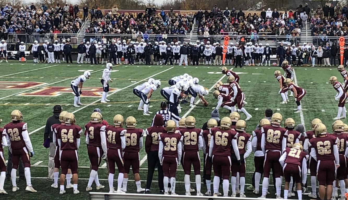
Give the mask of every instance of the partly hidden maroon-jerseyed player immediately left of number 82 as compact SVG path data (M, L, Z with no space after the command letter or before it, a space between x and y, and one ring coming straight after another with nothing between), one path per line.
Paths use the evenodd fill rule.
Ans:
M253 131L253 139L251 145L254 152L254 166L255 166L255 190L254 194L259 194L261 175L263 174L264 153L261 149L261 127L269 126L271 123L268 119L261 119L259 122L259 129Z

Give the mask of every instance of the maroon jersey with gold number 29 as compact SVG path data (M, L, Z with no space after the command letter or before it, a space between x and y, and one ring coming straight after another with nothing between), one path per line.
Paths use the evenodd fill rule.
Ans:
M198 151L199 136L202 136L200 128L183 128L180 130L182 142L184 144L183 151Z

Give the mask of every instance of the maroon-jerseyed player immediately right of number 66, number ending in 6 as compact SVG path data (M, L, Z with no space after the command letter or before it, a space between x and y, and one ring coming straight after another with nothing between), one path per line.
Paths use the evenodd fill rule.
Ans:
M245 198L244 194L244 187L245 187L245 159L250 155L251 153L251 135L248 133L245 133L246 130L246 123L244 120L238 120L236 123L236 131L238 133L237 143L238 143L238 150L241 160L241 165L238 166L236 160L234 160L234 156L232 156L232 165L231 165L231 187L232 187L232 195L231 197L236 197L236 188L238 188L238 185L236 185L236 176L237 173L239 173L240 177L240 195L239 197ZM234 153L231 151L231 153Z

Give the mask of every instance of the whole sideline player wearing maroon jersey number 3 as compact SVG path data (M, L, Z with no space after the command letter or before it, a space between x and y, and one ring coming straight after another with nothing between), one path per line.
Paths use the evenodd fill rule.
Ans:
M93 112L90 115L90 123L86 126L86 144L88 150L89 161L92 165L92 169L89 174L89 180L86 187L86 191L92 190L92 183L95 181L97 185L96 189L100 190L105 186L99 183L98 168L102 158L106 158L106 126L103 125L103 116L100 112Z

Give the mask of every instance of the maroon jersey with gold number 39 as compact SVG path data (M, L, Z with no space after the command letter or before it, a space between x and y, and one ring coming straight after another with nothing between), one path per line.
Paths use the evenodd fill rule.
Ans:
M163 143L163 157L177 158L177 144L179 144L181 135L179 133L169 134L164 132L160 135L160 139Z

